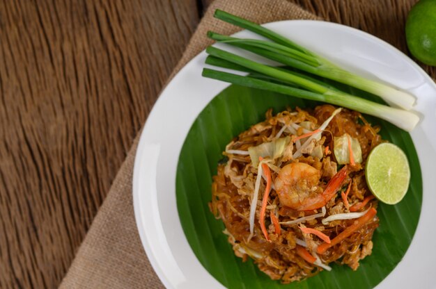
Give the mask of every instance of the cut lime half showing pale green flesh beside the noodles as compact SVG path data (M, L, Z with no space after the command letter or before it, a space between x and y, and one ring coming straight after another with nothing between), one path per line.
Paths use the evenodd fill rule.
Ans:
M377 145L366 159L366 183L385 204L397 204L406 195L410 167L404 152L389 142Z

